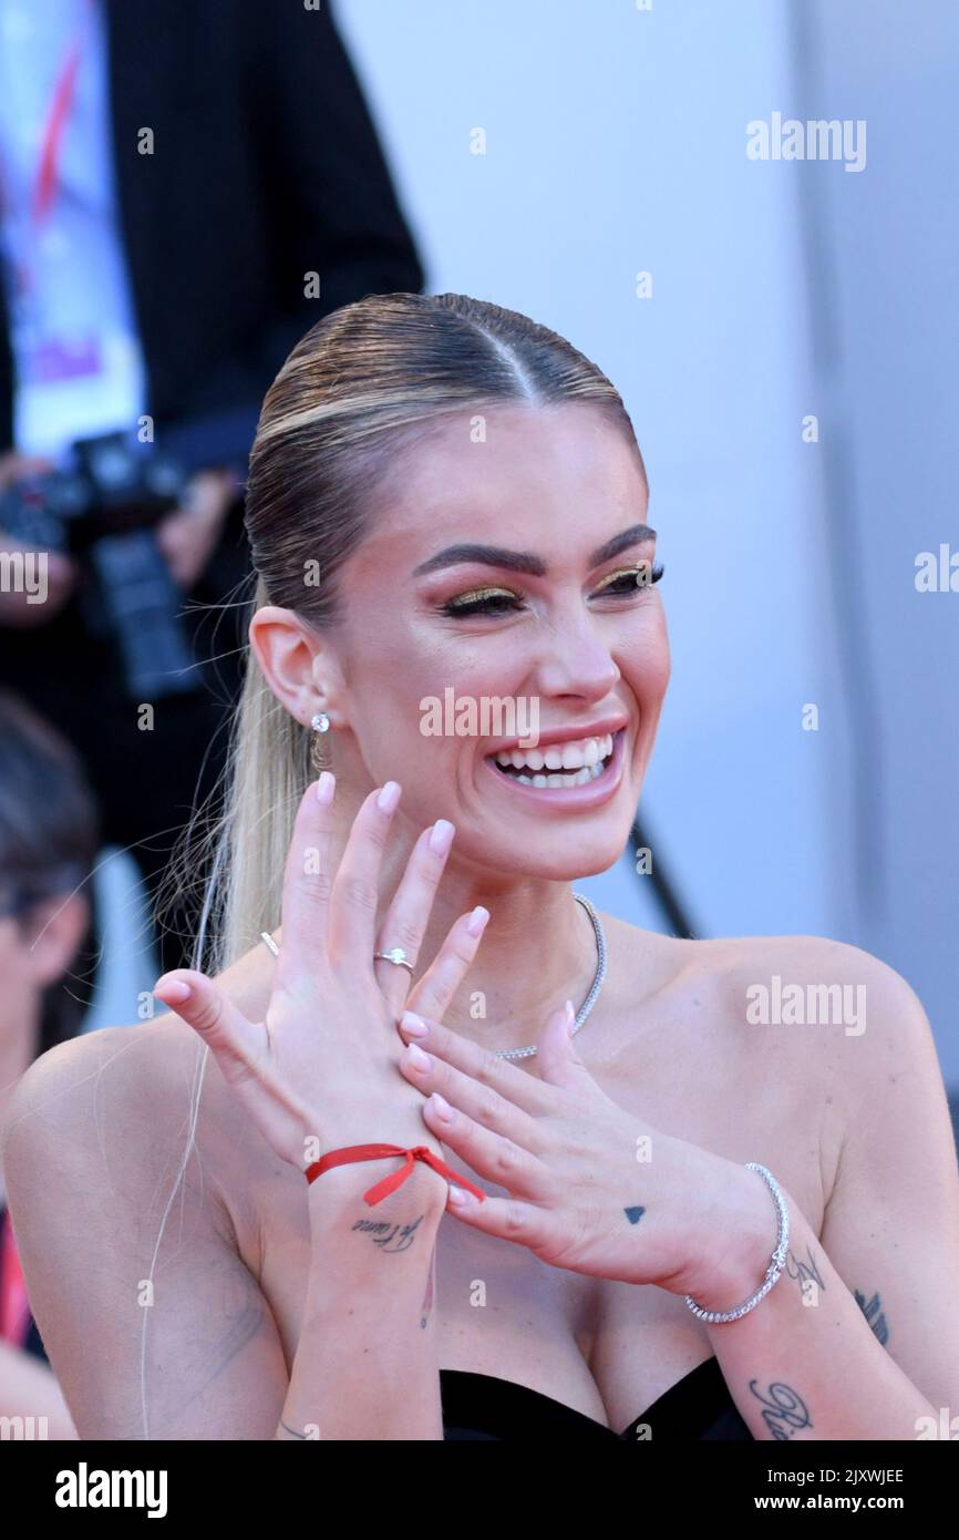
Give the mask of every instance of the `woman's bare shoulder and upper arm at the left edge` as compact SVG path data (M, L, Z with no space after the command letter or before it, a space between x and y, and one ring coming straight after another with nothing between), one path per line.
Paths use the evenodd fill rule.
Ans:
M223 1198L211 1069L195 1033L165 1013L51 1049L14 1093L9 1207L82 1438L276 1429L283 1352Z

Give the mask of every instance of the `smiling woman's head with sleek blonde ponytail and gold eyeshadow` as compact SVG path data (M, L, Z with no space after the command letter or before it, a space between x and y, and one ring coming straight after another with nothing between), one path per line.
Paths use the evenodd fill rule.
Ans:
M448 872L496 887L619 858L670 675L651 531L625 536L647 504L617 390L528 317L460 294L371 294L306 333L251 454L256 658L214 967L277 922L317 710L339 805L399 781L397 816L416 832L456 825ZM466 545L531 559L451 562ZM517 735L482 724L429 735L423 701L451 687L536 701L539 732L570 756L560 744L559 764L554 745L545 762L506 764Z

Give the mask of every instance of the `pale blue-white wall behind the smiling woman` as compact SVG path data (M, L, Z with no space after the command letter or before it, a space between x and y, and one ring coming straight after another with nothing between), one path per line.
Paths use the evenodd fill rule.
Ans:
M674 670L642 812L696 933L876 952L919 992L959 1084L959 594L913 588L917 550L959 544L956 12L334 11L428 290L554 326L633 417ZM867 168L748 160L745 125L773 111L867 119ZM582 886L663 926L628 858Z

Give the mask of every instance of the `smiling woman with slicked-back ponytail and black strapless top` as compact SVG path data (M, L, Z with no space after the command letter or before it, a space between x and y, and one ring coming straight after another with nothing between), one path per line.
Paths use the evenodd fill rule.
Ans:
M908 1440L959 1395L959 1181L908 986L576 902L670 678L647 505L616 388L514 311L368 296L289 354L228 812L179 875L211 856L195 967L155 986L180 1021L17 1093L11 1195L82 1435ZM446 691L476 710L423 732ZM490 730L503 701L536 702L534 742ZM868 1053L756 1035L773 969L868 987Z

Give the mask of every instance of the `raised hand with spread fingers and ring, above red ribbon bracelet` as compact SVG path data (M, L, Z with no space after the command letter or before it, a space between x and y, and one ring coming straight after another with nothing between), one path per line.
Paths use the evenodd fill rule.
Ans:
M442 1152L423 1121L420 1092L397 1067L403 1043L396 1023L409 973L374 962L373 955L402 946L416 966L453 825L440 821L422 832L377 935L382 855L400 788L386 782L369 793L336 878L329 870L334 790L334 776L323 772L296 816L283 873L283 933L263 1019L248 1021L192 969L174 969L154 984L154 995L209 1046L266 1143L300 1172L345 1144L426 1144ZM486 919L485 910L474 910L451 927L416 987L420 1010L442 1015Z

